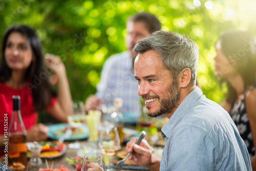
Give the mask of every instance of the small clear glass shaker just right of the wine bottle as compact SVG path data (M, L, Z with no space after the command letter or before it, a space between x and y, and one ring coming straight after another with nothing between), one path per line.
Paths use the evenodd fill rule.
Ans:
M42 159L40 158L42 146L34 141L31 146L31 158L29 159L29 171L37 171L42 166Z

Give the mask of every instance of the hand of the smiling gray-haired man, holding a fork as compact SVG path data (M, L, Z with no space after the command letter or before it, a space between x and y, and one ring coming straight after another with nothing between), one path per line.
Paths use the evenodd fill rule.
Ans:
M126 154L134 149L134 153L129 157L133 159L138 165L150 168L151 170L159 170L160 159L152 153L150 144L143 139L139 145L135 144L138 138L131 138L127 142L125 151Z

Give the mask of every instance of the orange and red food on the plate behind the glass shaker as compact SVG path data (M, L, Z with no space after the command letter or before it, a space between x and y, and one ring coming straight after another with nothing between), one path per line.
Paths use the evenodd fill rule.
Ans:
M42 146L40 157L54 157L58 156L59 153L66 147L66 144L60 141L41 141L38 144ZM28 146L28 156L31 156L30 147Z

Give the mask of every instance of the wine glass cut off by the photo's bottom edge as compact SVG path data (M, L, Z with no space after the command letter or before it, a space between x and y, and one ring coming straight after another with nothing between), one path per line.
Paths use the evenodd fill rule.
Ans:
M83 156L81 171L106 171L105 162L101 154L88 154Z

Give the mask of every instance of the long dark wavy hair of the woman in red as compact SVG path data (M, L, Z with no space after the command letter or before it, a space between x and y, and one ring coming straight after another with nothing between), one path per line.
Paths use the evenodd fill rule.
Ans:
M6 63L5 49L7 39L13 32L22 34L31 46L32 53L35 56L35 61L30 63L30 66L24 75L24 80L27 82L26 85L29 87L30 92L32 93L35 111L46 110L50 103L51 97L56 97L56 92L53 90L47 79L48 74L44 65L41 42L36 32L30 27L25 25L15 25L6 30L2 39L0 82L6 82L11 78L12 70L7 66ZM44 74L44 78L46 79L40 79L40 82L35 82L35 79L38 81L38 78L40 78L40 74Z

